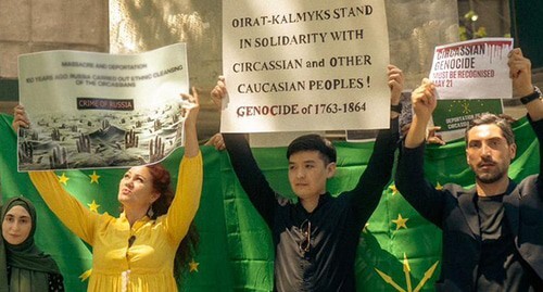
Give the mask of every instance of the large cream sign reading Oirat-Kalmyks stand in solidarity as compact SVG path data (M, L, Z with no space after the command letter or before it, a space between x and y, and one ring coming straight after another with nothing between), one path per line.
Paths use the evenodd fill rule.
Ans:
M225 0L224 132L389 127L382 0Z

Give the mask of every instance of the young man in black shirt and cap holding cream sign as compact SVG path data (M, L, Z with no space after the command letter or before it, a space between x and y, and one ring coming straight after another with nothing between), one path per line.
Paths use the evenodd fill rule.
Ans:
M212 138L226 145L233 170L250 201L272 230L276 291L355 291L354 259L362 229L390 182L399 141L397 117L404 85L401 69L389 66L390 129L379 131L371 158L352 190L332 196L327 180L337 153L318 135L294 139L287 150L289 182L298 202L277 193L256 164L243 134ZM211 92L217 104L227 94L224 79Z

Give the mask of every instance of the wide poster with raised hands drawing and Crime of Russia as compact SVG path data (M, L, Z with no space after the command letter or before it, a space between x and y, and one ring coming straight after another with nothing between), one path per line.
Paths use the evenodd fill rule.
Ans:
M182 145L184 43L134 55L48 51L18 59L18 170L126 167Z

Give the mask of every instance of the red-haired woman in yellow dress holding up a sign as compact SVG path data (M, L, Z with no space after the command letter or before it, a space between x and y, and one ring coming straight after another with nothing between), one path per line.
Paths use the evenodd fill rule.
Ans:
M181 94L194 106L185 120L185 155L175 195L169 191L169 174L161 165L131 167L118 187L123 212L117 218L89 211L64 190L53 172L29 173L51 211L92 245L88 291L177 291L174 275L179 276L179 262L188 259L191 249L181 240L194 239L189 230L203 178L195 126L199 101L194 89L192 92L193 97ZM24 109L16 109L14 128L28 125Z

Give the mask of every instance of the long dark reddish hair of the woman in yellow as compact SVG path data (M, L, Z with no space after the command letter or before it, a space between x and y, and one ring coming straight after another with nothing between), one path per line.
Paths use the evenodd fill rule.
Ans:
M172 190L172 178L169 172L161 164L148 165L147 168L153 177L153 188L161 195L151 205L152 212L149 212L151 219L156 219L159 216L167 213L175 192ZM190 223L189 231L179 243L174 259L174 277L179 282L181 275L187 271L189 262L197 253L200 234L198 233L194 221Z

